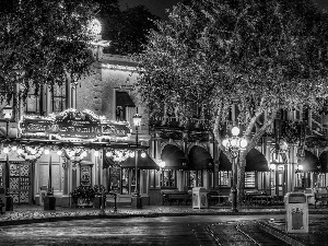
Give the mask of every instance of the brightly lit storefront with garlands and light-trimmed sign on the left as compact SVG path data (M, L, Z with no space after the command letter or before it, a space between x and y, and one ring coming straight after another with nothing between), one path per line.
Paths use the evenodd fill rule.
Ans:
M80 185L104 185L108 190L122 194L128 189L131 194L136 167L159 168L148 155L149 148L136 144L131 132L128 122L107 120L90 110L24 116L19 136L2 144L1 186L9 189L14 203L37 204L42 203L40 188L47 187L57 206L63 207L71 206L70 192ZM140 157L132 157L136 153ZM108 160L110 168L106 168ZM138 181L147 192L142 177Z

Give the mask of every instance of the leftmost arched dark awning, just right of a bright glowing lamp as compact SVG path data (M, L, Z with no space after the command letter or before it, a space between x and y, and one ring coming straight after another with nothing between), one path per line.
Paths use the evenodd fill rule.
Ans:
M166 169L188 169L188 159L185 153L176 145L166 145L161 155L165 162Z

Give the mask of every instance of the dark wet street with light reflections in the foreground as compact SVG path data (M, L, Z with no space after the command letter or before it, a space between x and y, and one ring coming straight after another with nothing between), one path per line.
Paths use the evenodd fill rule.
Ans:
M236 225L250 226L255 220L269 219L279 220L283 215L190 215L33 223L1 227L0 242L1 245L191 246L245 245L246 242L257 245L236 231Z

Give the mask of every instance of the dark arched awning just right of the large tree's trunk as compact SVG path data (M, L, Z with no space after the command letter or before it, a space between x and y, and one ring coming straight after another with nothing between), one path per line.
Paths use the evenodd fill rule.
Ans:
M256 149L251 149L246 155L245 172L269 172L266 156Z

